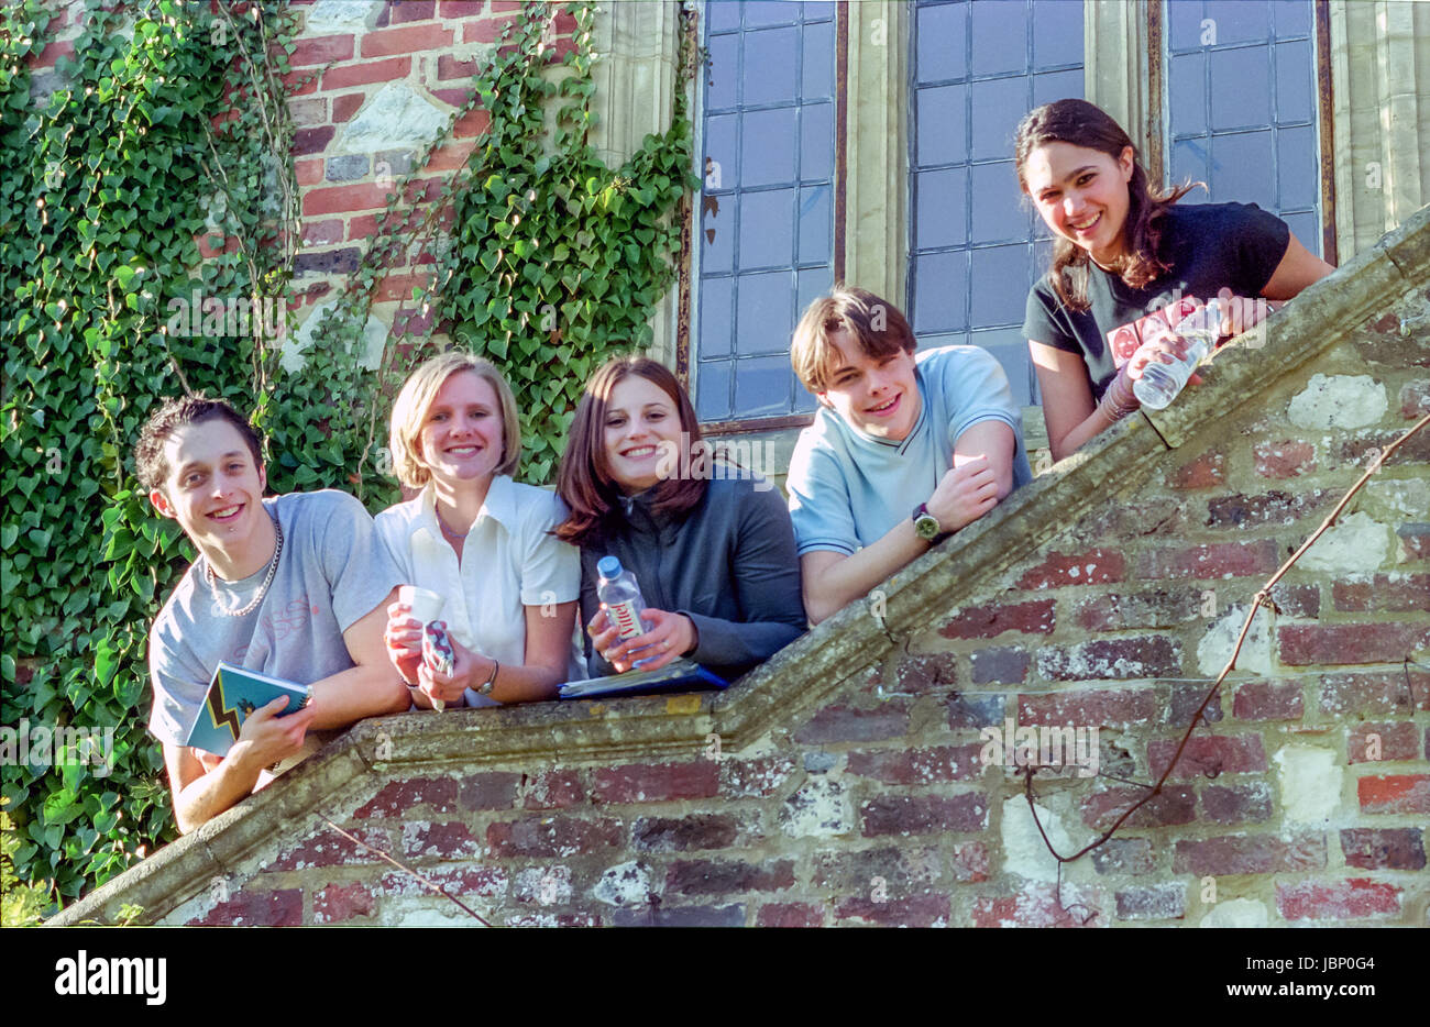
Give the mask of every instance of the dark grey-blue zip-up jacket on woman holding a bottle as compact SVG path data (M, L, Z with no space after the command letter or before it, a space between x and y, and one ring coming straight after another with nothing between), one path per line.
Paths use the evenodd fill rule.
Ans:
M756 492L759 483L765 491ZM646 606L685 614L699 632L691 659L726 681L738 678L804 634L799 558L789 511L764 481L716 478L685 515L651 511L651 493L622 502L625 518L606 538L581 546L581 622L601 609L596 564L618 556L635 574ZM592 677L615 674L592 652Z

